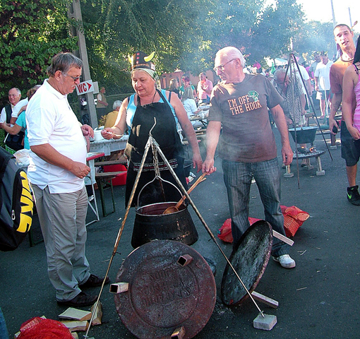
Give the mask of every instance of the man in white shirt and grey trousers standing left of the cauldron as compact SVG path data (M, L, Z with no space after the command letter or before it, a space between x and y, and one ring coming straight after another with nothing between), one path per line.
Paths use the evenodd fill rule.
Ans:
M88 210L84 178L84 136L93 136L88 125L80 127L67 95L80 83L83 62L71 53L59 53L48 68L49 79L31 98L26 110L30 144L28 178L47 250L49 279L58 304L85 307L97 296L81 289L102 285L90 274L85 256ZM106 282L109 283L109 280Z

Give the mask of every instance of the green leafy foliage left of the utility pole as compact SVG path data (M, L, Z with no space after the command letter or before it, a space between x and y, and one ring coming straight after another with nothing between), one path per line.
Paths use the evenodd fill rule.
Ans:
M49 60L61 51L76 49L68 36L66 1L1 0L0 97L8 89L28 90L42 83Z

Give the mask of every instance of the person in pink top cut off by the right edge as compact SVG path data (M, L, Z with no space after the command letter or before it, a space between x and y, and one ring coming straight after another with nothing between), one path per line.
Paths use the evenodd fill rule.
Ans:
M342 81L342 115L347 130L355 140L360 154L360 37L357 40L354 61L344 73ZM355 95L356 108L352 115L352 97Z

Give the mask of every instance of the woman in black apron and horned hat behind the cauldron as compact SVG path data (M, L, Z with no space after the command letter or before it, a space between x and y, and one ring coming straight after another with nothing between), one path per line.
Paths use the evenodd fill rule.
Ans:
M125 150L129 160L126 177L126 206L143 158L150 129L155 124L154 118L156 118L156 125L152 129L152 136L160 145L162 153L167 157L183 186L186 187L187 185L182 157L183 146L177 126L181 126L193 150L193 168L197 166L199 172L203 163L195 131L188 120L179 97L171 95L172 93L166 90L157 90L156 88L158 77L154 64L150 62L152 57L153 54L147 56L143 52L136 52L133 55L131 58L131 81L136 94L123 101L114 126L102 131L102 136L106 139L119 138L119 135L124 134L126 128L128 128L130 134ZM177 186L174 177L167 169L167 165L164 164L161 156L158 155L157 158L162 179ZM140 190L151 182L154 177L155 168L152 150L150 149L141 172L132 206L136 206ZM139 205L144 206L160 201L178 201L179 198L181 198L181 194L174 186L163 182L160 184L158 180L155 180L152 184L146 185L145 190L141 193Z

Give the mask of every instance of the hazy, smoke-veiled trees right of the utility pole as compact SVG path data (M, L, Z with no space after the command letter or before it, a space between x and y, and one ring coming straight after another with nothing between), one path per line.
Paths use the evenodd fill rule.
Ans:
M109 94L130 86L128 55L155 51L158 73L211 69L218 49L238 47L248 64L289 53L304 26L295 0L84 0L92 78ZM127 87L127 88L128 88ZM112 89L110 89L112 88Z

